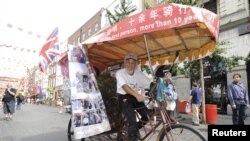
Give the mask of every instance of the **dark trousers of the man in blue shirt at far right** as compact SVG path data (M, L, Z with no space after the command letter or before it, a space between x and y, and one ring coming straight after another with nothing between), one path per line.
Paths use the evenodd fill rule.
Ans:
M246 118L246 105L236 104L236 109L233 111L233 125L244 125L244 120Z

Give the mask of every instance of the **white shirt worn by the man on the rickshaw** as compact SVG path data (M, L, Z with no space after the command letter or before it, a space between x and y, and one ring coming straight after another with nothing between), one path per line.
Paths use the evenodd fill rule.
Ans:
M121 69L116 72L117 90L116 92L125 95L126 92L122 88L123 85L127 84L134 91L144 90L149 88L150 80L138 69L135 70L133 75L129 75L125 69Z

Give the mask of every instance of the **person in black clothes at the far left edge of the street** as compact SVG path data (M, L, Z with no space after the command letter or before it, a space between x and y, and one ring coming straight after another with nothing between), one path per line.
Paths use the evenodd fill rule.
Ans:
M3 112L5 114L5 120L12 120L12 116L15 112L15 96L16 96L16 89L12 88L10 84L7 84L7 88L4 92L3 97Z

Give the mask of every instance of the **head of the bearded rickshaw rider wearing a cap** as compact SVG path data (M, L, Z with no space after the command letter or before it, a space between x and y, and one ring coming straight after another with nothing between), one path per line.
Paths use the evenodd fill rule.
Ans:
M128 53L124 58L124 67L128 74L133 75L137 66L137 55Z

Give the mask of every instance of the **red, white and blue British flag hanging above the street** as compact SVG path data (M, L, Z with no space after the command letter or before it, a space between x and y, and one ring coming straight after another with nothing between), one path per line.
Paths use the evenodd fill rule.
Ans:
M43 45L39 53L39 68L42 72L46 72L48 65L53 59L60 55L59 42L58 42L58 28L50 34L47 38L46 43Z

